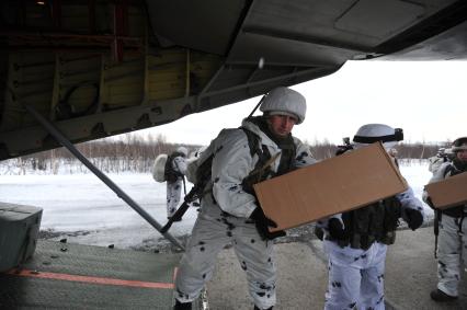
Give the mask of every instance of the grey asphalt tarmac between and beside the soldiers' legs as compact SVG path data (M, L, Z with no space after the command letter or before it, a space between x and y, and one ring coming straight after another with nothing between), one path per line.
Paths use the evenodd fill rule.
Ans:
M323 309L328 282L326 254L317 239L275 244L277 305L274 309ZM438 303L430 298L436 287L433 227L398 231L386 260L386 309L467 309L467 272L456 301ZM231 249L218 257L207 285L210 310L253 309L244 273Z

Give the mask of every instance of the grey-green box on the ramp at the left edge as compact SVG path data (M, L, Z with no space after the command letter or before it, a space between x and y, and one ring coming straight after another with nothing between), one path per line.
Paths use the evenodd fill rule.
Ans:
M0 273L34 254L42 208L0 203Z

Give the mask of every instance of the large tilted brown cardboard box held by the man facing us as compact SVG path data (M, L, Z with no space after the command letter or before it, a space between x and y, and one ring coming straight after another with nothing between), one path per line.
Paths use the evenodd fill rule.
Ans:
M272 231L355 209L407 190L381 143L346 152L254 185Z

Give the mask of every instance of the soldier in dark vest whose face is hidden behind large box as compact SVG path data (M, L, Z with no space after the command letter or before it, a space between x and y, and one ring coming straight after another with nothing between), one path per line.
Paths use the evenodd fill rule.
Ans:
M368 124L358 129L352 148L381 141L389 151L402 138L401 129ZM352 148L346 146L346 151ZM343 153L343 149L338 153ZM324 309L385 309L386 252L395 242L399 218L412 230L423 223L423 204L410 187L401 194L317 222L322 228L321 238L328 254Z

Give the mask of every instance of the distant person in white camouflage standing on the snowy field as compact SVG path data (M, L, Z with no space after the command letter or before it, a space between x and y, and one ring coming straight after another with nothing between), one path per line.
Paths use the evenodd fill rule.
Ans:
M179 147L166 161L167 181L167 218L170 219L176 211L182 194L182 186L185 187L184 175L186 173L186 156L189 150ZM185 193L186 194L186 193Z

